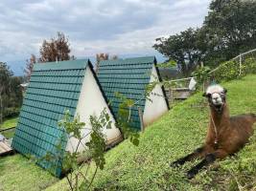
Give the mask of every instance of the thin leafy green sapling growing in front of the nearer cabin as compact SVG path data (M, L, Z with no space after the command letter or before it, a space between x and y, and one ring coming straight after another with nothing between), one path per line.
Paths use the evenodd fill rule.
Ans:
M139 145L139 133L132 131L129 127L130 113L127 107L133 104L131 99L122 97L122 102L119 106L118 127L123 133L124 138L129 138L133 145ZM58 127L63 130L63 135L59 138L56 149L57 153L47 154L40 158L35 159L36 162L48 162L50 163L49 171L57 175L57 169L62 169L64 173L69 172L65 177L70 190L89 190L91 184L98 172L98 169L103 170L105 166L105 148L106 148L106 136L104 129L111 129L113 121L110 119L106 112L106 108L101 112L99 117L90 116L91 128L86 126L84 122L80 121L80 116L71 117L70 112L67 110L64 113L64 117L58 121ZM82 129L86 129L88 132L83 135ZM76 138L78 144L72 145L73 152L63 152L63 142L66 142L67 137ZM89 138L85 144L82 143L84 138ZM81 150L80 151L80 147ZM31 156L32 159L35 156ZM61 162L58 162L61 161ZM89 168L94 161L96 169L93 171L93 176L90 177ZM86 171L82 171L82 168L86 168Z

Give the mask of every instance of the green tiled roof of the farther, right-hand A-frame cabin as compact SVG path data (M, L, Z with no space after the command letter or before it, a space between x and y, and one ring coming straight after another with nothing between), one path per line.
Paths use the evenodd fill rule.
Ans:
M114 117L117 117L120 100L115 93L133 99L142 112L145 107L146 87L150 83L151 71L156 63L154 56L104 60L100 63L98 79ZM140 118L137 107L131 109L131 126L140 130Z

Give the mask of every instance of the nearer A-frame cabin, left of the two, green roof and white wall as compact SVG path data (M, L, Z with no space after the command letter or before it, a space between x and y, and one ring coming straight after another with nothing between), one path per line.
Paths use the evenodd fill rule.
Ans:
M105 96L91 62L72 60L35 64L31 81L24 97L18 125L12 141L12 147L23 155L43 158L47 152L58 152L56 145L63 132L58 128L58 120L64 111L69 110L71 117L80 116L86 128L90 125L91 115L99 116L106 108L112 128L104 130L107 144L120 141L119 129L114 126L114 117L108 109ZM82 130L82 134L87 134ZM88 139L83 139L83 143ZM62 149L73 151L78 140L67 138ZM81 151L82 148L79 148ZM61 162L61 161L56 161ZM49 162L39 162L44 168L50 168ZM56 169L59 176L61 169Z

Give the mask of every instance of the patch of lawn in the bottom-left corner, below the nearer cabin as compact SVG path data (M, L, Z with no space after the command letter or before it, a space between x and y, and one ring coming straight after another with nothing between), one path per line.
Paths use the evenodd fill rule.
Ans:
M42 190L58 179L22 157L0 158L0 190Z

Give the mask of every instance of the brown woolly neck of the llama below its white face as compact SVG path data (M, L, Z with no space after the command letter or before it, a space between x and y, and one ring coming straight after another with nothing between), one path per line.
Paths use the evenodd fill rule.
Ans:
M221 113L219 113L215 109L211 108L211 117L214 120L214 122L211 119L210 124L212 126L215 125L217 129L228 126L228 123L229 123L229 109L228 109L228 106L226 105L226 103L223 105Z

